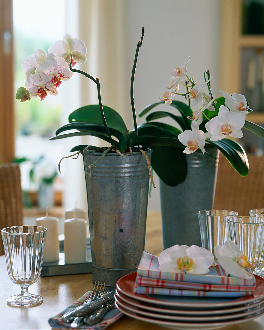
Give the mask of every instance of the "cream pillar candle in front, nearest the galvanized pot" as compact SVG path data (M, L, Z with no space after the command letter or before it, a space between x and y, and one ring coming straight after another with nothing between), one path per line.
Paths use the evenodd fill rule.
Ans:
M82 263L86 261L86 225L86 220L76 217L64 221L65 264Z

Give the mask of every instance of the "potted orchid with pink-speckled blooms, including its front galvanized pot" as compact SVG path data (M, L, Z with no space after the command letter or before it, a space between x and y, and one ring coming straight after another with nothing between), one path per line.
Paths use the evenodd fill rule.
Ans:
M114 109L102 105L99 78L73 68L76 63L86 61L86 46L68 34L49 47L48 55L38 49L22 61L26 88L18 88L16 94L22 102L32 97L44 100L48 94L57 95L62 81L70 79L73 72L91 79L97 86L99 104L74 111L69 124L59 128L51 140L91 135L110 145L106 148L82 145L70 150L83 155L93 280L105 278L108 285L115 285L120 277L136 271L144 250L149 176L152 178L149 163L152 150L144 146L151 142L182 147L174 137L146 135L137 128L133 85L143 36L144 28L131 76L132 131ZM77 132L59 135L68 130Z

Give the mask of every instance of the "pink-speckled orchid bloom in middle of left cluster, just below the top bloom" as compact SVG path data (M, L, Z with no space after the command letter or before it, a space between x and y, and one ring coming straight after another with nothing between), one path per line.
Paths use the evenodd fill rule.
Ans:
M44 72L51 82L52 88L57 88L62 80L69 80L72 77L72 71L69 69L68 63L64 58L54 56L49 53L47 62L44 62L36 69L37 74Z

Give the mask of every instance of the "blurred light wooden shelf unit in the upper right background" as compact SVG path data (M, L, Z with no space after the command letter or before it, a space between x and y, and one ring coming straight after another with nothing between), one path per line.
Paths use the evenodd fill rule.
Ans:
M242 0L221 0L220 10L219 85L222 90L229 94L237 92L244 94L248 98L244 92L248 82L248 67L244 67L245 53L244 62L242 62L242 54L243 51L246 50L248 52L250 49L263 52L264 35L242 34ZM253 103L250 101L249 106L252 108L253 113L248 114L246 119L264 126L264 106L263 112L256 111ZM252 133L245 132L239 143L244 145L246 151L250 151L252 146L252 150L254 150L254 147L255 150L260 148L263 149L261 151L264 153L263 140L260 140L262 139Z

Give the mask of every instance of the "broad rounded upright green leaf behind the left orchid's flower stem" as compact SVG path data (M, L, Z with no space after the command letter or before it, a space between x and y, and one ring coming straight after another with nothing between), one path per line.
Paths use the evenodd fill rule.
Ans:
M108 127L115 128L120 131L123 135L129 133L122 117L112 108L103 106L104 114ZM91 124L103 125L100 107L98 104L87 105L75 110L69 116L69 122L88 122Z

